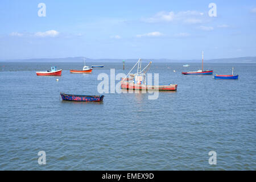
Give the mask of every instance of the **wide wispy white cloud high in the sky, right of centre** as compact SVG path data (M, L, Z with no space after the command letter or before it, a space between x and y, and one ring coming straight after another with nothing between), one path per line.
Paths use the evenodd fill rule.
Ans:
M199 11L174 11L166 12L160 11L151 18L143 19L147 23L159 23L159 22L182 22L188 24L203 23L205 21L204 13Z

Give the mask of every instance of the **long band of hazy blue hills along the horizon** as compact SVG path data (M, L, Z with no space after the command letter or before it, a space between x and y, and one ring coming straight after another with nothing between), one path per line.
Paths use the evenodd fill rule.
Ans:
M154 62L169 62L169 63L199 63L201 60L174 60L174 59L143 59ZM1 62L81 62L84 57L65 57L65 58L40 58L40 59L13 59L0 60ZM123 59L90 59L85 57L85 61L89 62L121 62ZM125 61L135 62L138 59L125 59ZM225 59L205 60L208 63L256 63L256 57L234 57Z

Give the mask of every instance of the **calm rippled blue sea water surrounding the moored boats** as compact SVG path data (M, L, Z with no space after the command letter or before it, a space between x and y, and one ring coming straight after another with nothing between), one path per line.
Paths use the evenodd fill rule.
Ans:
M91 65L92 63L87 63ZM210 64L238 80L185 76L201 64L152 63L159 83L176 92L104 94L102 103L61 101L59 93L99 94L100 73L127 73L133 63L104 64L71 74L82 63L0 63L1 170L255 170L256 64ZM61 77L36 71L63 69ZM174 70L176 72L174 72ZM56 81L59 78L59 82ZM217 164L208 163L209 151ZM46 165L39 165L39 151Z

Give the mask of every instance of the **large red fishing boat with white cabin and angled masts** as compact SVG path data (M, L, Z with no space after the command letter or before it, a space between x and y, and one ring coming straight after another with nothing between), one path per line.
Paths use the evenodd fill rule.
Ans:
M121 88L122 89L132 89L132 90L159 90L159 91L172 91L177 90L177 84L169 84L169 85L147 85L146 84L146 73L150 68L150 63L141 70L141 59L131 68L130 72L126 75L125 78L122 78ZM137 73L130 74L131 71L137 67ZM127 77L130 76L130 77ZM132 78L132 79L131 79Z

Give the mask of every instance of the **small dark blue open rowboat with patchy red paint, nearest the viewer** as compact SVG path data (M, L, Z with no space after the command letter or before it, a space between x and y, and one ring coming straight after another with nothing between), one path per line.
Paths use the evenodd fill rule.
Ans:
M84 96L84 95L73 95L73 94L65 94L65 93L60 93L60 96L63 101L80 101L80 102L100 102L104 98L104 95Z

